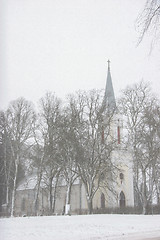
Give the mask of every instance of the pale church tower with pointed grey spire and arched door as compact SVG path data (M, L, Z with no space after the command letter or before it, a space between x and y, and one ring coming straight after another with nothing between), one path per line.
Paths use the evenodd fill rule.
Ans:
M119 113L116 105L114 88L112 84L110 61L108 60L108 73L105 87L105 94L103 100L104 107L109 114L113 115L113 123L111 126L113 139L115 139L115 150L112 154L112 162L117 167L117 174L115 175L116 184L114 186L116 195L108 194L112 199L108 202L108 207L133 207L133 170L132 170L132 156L128 149L123 144L123 116Z

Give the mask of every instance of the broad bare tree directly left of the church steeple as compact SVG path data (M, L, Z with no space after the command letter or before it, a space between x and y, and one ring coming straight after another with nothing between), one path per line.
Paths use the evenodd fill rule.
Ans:
M74 100L78 174L85 186L88 213L93 211L92 201L100 188L104 174L111 172L113 139L111 123L113 112L107 112L103 95L98 91L78 93Z

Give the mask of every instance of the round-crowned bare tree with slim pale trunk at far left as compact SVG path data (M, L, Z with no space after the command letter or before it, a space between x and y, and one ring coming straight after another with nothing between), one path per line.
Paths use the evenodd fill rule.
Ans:
M35 119L33 106L24 98L11 102L7 110L7 131L9 134L12 158L14 161L13 192L11 216L14 216L17 177L22 159L25 157L26 145L33 136L32 124Z

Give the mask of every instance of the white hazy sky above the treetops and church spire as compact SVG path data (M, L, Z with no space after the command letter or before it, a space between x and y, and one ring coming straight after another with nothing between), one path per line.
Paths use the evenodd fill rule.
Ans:
M145 0L0 0L0 108L20 96L35 104L104 89L107 60L115 95L140 80L160 91L160 48L136 46Z

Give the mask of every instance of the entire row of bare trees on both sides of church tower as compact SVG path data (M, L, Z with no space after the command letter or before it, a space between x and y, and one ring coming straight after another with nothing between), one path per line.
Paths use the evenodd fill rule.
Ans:
M136 203L160 200L159 102L149 87L140 83L123 91L119 110L125 116L123 147L133 154ZM84 184L88 212L102 187L111 189L116 166L111 161L117 140L111 134L113 111L103 104L100 91L78 92L64 104L55 94L40 99L38 113L24 98L10 103L0 112L1 205L5 203L14 216L19 181L33 169L37 175L35 214L40 185L46 184L50 213L54 213L56 191L63 176L67 185L66 214L70 210L71 188L79 178Z

